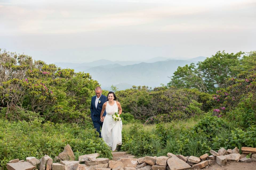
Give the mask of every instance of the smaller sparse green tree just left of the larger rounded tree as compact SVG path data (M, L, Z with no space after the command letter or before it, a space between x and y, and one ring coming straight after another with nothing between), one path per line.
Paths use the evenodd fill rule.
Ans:
M167 86L175 86L177 88L196 88L201 92L207 92L205 82L194 63L185 65L184 67L179 66Z

